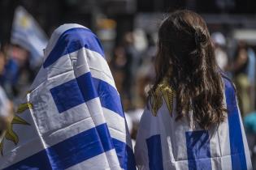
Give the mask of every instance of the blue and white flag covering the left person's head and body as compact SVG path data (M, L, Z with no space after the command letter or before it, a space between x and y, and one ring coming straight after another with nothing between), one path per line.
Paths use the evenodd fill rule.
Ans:
M64 24L3 141L4 169L135 169L119 93L88 28Z

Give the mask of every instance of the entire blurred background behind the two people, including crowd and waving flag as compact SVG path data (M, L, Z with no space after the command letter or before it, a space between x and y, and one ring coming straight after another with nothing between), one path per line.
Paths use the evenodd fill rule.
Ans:
M177 9L196 11L206 20L219 67L236 84L256 164L254 0L0 0L0 100L7 97L15 108L37 75L54 29L80 23L102 41L135 139L145 89L154 80L158 25Z

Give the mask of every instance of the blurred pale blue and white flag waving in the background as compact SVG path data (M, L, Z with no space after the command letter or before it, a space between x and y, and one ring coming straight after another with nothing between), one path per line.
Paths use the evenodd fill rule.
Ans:
M28 14L24 7L18 6L12 23L11 43L20 45L31 53L29 62L32 66L41 64L47 40L45 32L33 16Z

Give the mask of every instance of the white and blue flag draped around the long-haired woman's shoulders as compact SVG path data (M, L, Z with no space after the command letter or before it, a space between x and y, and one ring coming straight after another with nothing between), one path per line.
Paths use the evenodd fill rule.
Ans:
M245 130L232 83L223 78L226 120L202 130L188 119L176 121L175 91L163 86L154 96L156 109L146 108L137 134L135 158L141 170L251 170ZM168 94L168 95L167 95Z

